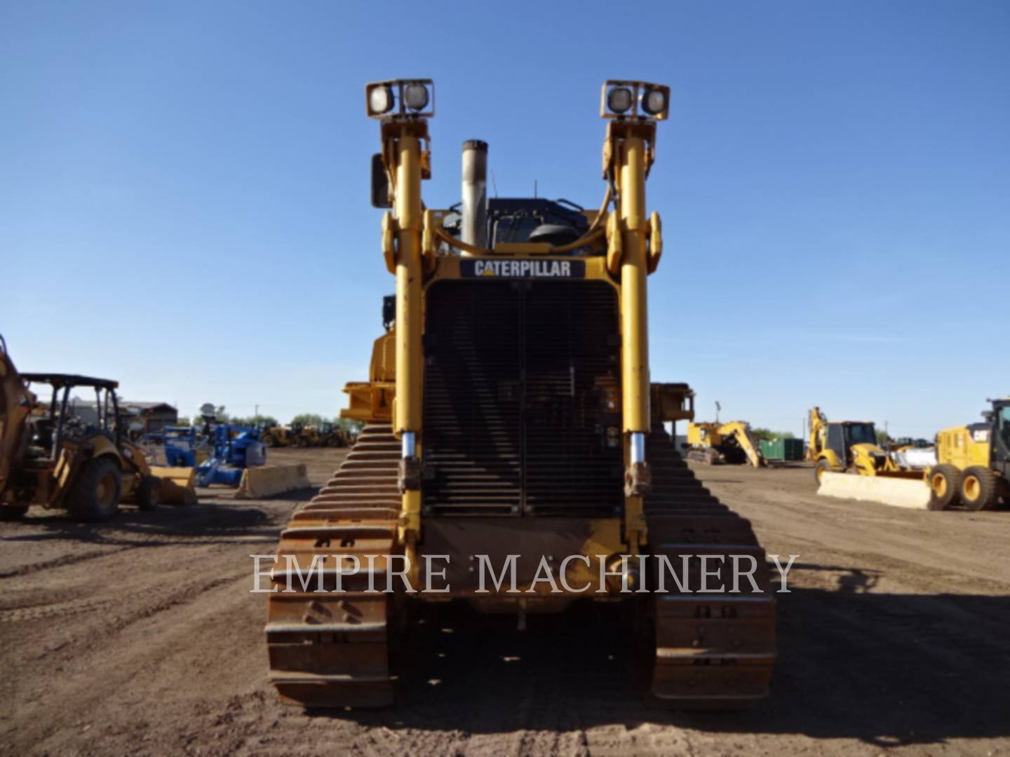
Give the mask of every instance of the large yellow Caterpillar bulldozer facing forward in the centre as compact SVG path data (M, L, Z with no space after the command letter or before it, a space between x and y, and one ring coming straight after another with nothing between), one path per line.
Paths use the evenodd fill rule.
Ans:
M599 210L488 199L488 145L470 140L457 212L421 198L431 82L366 87L380 124L372 200L389 209L381 250L395 306L369 381L344 389L342 416L364 429L282 532L264 589L270 677L283 699L391 704L410 671L391 667L390 647L419 606L449 601L513 614L519 629L528 614L619 603L649 650L655 701L744 708L768 693L776 605L765 553L666 430L693 417L691 390L649 383L646 281L663 240L645 180L669 97L642 82L603 86ZM718 565L705 592L699 552ZM736 591L731 558L754 568ZM685 566L683 586L669 575L664 584L664 560ZM485 561L510 566L512 580L484 587ZM429 591L430 562L444 571ZM320 565L309 585L298 580ZM543 569L561 585L548 587ZM393 592L371 590L394 573Z

